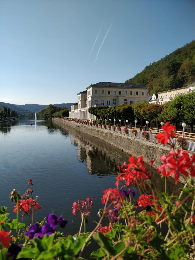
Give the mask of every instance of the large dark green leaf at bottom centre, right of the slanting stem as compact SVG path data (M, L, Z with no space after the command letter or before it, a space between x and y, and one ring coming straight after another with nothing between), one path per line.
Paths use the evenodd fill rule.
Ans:
M104 252L108 255L114 255L114 249L112 248L112 240L106 237L103 233L98 232L93 235L93 238L99 244Z

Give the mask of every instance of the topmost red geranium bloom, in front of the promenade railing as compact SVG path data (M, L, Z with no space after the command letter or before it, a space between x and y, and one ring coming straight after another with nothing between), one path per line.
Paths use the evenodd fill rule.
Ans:
M169 124L170 122L166 122L162 127L163 132L155 136L155 138L157 138L158 142L161 144L167 144L168 139L173 138L177 135L176 133L172 132L175 130L175 126Z

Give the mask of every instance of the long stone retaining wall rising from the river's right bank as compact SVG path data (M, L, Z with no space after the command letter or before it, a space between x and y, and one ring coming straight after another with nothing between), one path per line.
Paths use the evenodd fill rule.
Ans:
M153 167L157 168L160 163L160 155L168 154L170 147L167 145L158 144L156 142L145 140L139 137L133 137L132 135L127 135L123 133L118 133L108 129L78 124L75 122L67 121L61 118L52 118L53 122L56 122L57 125L63 127L63 125L72 127L89 135L92 135L96 138L99 138L113 146L117 147L120 150L132 155L136 154L136 157L143 156L145 162L149 162L154 159L155 162ZM189 152L190 153L190 152ZM190 154L192 154L191 152Z

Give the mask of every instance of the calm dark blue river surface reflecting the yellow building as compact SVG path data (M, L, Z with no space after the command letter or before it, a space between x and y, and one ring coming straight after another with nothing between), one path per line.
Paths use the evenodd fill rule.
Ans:
M91 215L97 219L103 191L115 187L116 166L129 158L117 148L72 128L62 129L47 121L35 125L35 121L25 119L0 125L0 155L1 205L8 206L10 218L15 217L10 192L16 189L22 195L31 178L33 194L39 196L42 206L35 212L35 221L49 213L63 215L68 219L64 232L70 234L77 233L80 225L79 213L72 214L73 202L93 198ZM159 191L163 191L164 183L155 170L153 176ZM172 182L168 187L172 189ZM87 230L92 226L90 221Z

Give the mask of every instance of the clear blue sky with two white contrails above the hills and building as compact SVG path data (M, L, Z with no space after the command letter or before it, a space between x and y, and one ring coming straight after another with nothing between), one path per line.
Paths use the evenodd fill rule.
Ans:
M194 0L0 0L0 101L77 102L195 39Z

